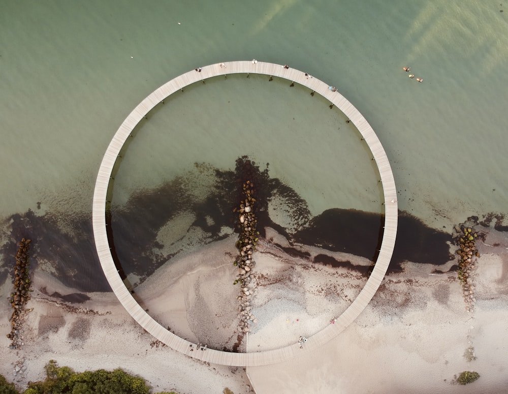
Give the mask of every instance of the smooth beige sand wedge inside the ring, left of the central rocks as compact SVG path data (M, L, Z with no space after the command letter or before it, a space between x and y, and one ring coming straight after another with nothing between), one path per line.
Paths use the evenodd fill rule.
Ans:
M235 236L228 237L164 265L136 288L136 298L176 335L231 349L238 325L235 241Z

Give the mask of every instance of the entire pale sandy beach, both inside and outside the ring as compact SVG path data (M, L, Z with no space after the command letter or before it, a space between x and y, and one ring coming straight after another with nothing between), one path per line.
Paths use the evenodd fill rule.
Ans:
M311 263L323 250L305 247L310 256L294 257L282 250L287 241L275 231L267 229L267 238L256 252L258 287L252 310L258 324L239 348L246 346L249 352L290 345L299 336L311 340L366 282L354 270ZM454 260L439 267L442 273L431 264L407 262L403 272L385 278L367 309L336 339L311 352L304 344L301 357L278 365L248 367L248 378L243 368L207 365L156 341L113 293L88 293L88 300L70 304L62 297L82 293L36 270L24 345L9 350L3 336L0 372L22 388L43 379L45 363L55 359L76 371L124 368L146 378L155 391L180 393L222 392L225 387L235 393L252 388L259 393L499 392L506 384L503 366L508 365L506 234L489 229L478 246L473 313L465 310L456 273L446 272ZM327 253L357 266L370 264L352 255ZM231 237L218 241L164 265L135 294L175 334L231 349L238 342L233 255ZM2 313L10 313L3 305ZM8 326L2 323L4 331ZM466 360L468 347L477 359ZM25 370L14 375L20 360ZM481 378L465 387L453 384L454 375L465 370L477 371Z

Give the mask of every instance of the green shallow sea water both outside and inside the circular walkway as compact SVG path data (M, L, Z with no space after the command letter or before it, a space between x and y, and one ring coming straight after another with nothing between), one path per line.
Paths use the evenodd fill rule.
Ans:
M383 143L400 209L445 231L470 215L506 213L502 9L479 0L6 4L0 216L32 209L42 219L34 218L37 230L28 236L46 239L45 256L55 259L49 263L76 267L77 277L97 267L86 223L101 158L123 119L189 69L253 57L338 87ZM403 66L424 82L409 79ZM227 170L248 154L269 162L270 174L297 191L313 215L328 208L382 212L377 173L358 133L308 93L285 81L236 76L175 94L140 124L118 169L113 206L121 209L195 162ZM196 194L205 186L198 179ZM68 236L54 235L55 228ZM80 242L89 253L77 251Z

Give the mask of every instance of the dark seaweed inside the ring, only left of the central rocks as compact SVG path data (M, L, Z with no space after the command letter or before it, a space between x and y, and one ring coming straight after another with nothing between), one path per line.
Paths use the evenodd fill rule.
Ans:
M192 225L208 234L203 244L223 238L219 234L221 228L233 225L227 199L232 191L222 188L219 193L219 188L216 189L208 190L204 201L196 201L190 193L189 182L177 177L155 189L139 191L124 206L112 207L108 212L110 219L107 217L111 223L108 237L120 276L123 279L129 273L149 276L174 256L158 252L163 245L156 238L161 228L183 211L195 213Z

